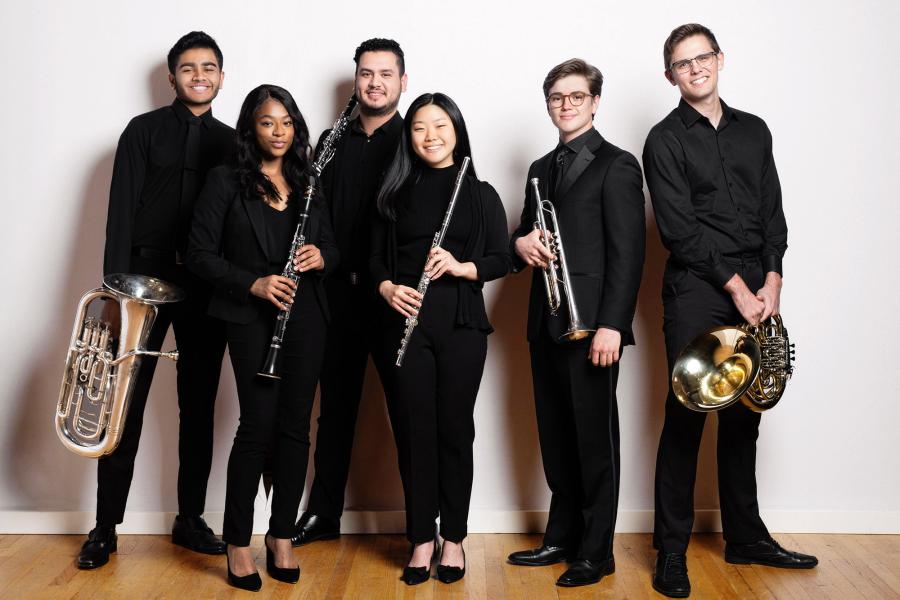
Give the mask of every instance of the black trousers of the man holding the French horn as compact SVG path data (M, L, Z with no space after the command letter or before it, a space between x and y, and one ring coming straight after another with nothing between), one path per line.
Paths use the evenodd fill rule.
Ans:
M751 291L764 283L758 259L729 263ZM729 294L669 261L663 278L663 331L672 367L681 350L703 331L719 325L737 325L743 318ZM725 540L751 543L769 535L759 516L756 499L756 439L760 414L740 402L720 410L716 461L719 504ZM694 482L697 453L706 413L678 402L671 383L666 417L656 457L656 514L653 545L665 553L684 553L694 524Z

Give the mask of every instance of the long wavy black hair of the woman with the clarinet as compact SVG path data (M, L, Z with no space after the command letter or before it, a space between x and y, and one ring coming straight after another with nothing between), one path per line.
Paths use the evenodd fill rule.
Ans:
M235 166L241 194L245 198L267 196L278 198L278 190L272 181L260 170L263 156L256 142L256 113L266 100L275 100L287 110L294 126L294 142L291 144L281 172L287 180L292 193L305 189L309 175L312 173L309 159L309 129L306 121L294 102L294 97L284 88L277 85L263 84L251 90L241 106L241 114L235 129L237 143L235 148Z

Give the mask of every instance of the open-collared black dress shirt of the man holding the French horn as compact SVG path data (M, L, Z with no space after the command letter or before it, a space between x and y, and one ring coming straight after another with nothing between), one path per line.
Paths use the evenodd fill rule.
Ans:
M787 224L765 122L722 102L714 128L683 99L644 145L644 174L663 244L695 275L723 286L727 258L755 256L781 273Z

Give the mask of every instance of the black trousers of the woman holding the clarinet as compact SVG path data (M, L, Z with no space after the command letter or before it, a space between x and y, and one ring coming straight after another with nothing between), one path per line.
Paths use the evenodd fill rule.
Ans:
M254 299L254 301L257 301ZM309 456L309 419L325 346L325 318L312 285L301 283L281 348L281 379L259 377L277 310L265 304L255 320L226 324L228 353L241 407L228 458L222 538L250 544L253 501L267 455L272 456L272 516L269 532L294 535Z

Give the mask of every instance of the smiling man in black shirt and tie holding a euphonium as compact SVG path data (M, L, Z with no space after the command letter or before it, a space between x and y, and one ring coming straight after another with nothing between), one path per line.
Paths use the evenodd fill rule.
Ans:
M201 515L212 463L224 328L206 315L209 287L189 273L181 259L194 201L206 172L230 154L234 130L216 120L210 108L224 77L215 40L203 32L188 33L169 52L168 66L175 101L132 119L119 139L103 274L150 275L186 292L184 301L159 307L147 342L149 349L158 350L172 325L179 350L178 516L172 541L197 552L223 554L224 543ZM116 550L115 528L125 514L155 367L155 358L142 359L122 440L115 452L99 460L97 524L78 555L81 569L106 564Z

